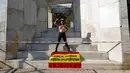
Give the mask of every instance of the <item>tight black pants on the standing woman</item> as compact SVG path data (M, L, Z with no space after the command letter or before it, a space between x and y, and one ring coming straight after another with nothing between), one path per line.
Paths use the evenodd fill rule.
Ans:
M70 48L69 48L69 46L68 46L68 44L67 44L67 39L66 39L65 32L59 32L59 35L58 35L58 43L57 43L57 45L56 45L55 51L57 51L57 48L58 48L58 46L59 46L59 43L60 43L61 38L63 38L63 40L64 40L64 42L65 42L65 46L68 48L68 51L70 51Z

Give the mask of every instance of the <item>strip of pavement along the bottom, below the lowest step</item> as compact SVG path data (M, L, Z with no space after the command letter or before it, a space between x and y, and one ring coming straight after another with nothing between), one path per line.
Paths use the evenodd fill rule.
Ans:
M130 70L88 70L83 68L0 69L0 73L130 73Z

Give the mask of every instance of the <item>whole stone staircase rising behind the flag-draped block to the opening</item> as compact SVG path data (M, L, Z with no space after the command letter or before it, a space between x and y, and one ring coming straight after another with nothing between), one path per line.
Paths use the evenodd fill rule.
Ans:
M17 52L17 59L8 60L7 63L15 68L48 68L49 56L56 47L56 32L57 30L54 28L42 32L40 37L33 40L34 43L27 43L24 50ZM98 51L96 44L83 44L83 39L79 38L79 35L75 36L72 30L69 30L67 34L69 34L67 35L67 42L71 51L78 51L81 54L82 68L121 69L121 64L110 61L108 53ZM61 42L58 51L66 52L64 42Z

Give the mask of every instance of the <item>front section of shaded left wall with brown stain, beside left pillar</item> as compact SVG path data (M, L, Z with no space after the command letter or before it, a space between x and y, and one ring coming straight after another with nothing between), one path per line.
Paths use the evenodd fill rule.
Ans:
M26 41L35 35L36 2L33 0L8 0L7 57L17 58L17 51L25 50Z

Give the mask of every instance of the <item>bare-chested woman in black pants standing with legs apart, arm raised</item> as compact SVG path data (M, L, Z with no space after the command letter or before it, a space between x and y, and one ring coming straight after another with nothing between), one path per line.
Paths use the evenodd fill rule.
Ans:
M70 51L70 48L67 44L67 39L66 39L66 34L65 32L67 31L66 27L65 27L65 24L64 24L64 20L62 19L59 23L59 26L58 26L58 30L59 30L59 35L58 35L58 43L56 45L56 49L55 49L55 52L57 52L57 48L59 46L59 43L60 43L60 40L61 38L63 38L64 42L65 42L65 46L68 48L68 52Z

